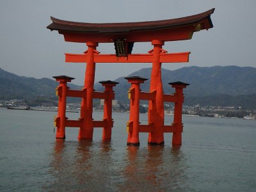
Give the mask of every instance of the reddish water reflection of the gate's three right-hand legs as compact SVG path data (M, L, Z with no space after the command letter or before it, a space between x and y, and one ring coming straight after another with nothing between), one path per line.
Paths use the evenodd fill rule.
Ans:
M179 191L186 186L186 162L179 147L129 146L125 159L120 191Z

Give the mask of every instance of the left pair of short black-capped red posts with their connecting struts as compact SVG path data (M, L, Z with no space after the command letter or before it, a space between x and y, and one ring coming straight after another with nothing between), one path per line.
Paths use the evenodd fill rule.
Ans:
M54 125L57 127L56 138L65 139L65 127L82 127L85 120L79 118L78 120L68 120L65 115L66 112L66 99L67 97L80 97L86 99L87 89L83 90L70 90L67 86L67 82L70 82L72 77L56 76L56 81L60 82L60 85L56 88L56 95L59 97L58 102L58 116L54 118ZM95 92L93 90L93 99L104 99L104 116L103 120L93 120L92 127L103 127L102 140L111 140L111 128L113 127L112 119L112 100L115 99L113 92L113 86L118 84L115 81L101 81L102 86L105 87L104 92ZM81 128L80 128L81 129ZM79 135L78 137L81 138Z

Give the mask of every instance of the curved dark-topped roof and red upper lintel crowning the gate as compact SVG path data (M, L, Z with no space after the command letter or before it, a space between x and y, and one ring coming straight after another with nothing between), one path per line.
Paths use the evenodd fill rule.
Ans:
M195 31L213 27L213 12L214 8L177 19L119 23L72 22L51 17L52 24L47 29L58 31L69 42L113 42L116 39L125 39L127 42L186 40Z

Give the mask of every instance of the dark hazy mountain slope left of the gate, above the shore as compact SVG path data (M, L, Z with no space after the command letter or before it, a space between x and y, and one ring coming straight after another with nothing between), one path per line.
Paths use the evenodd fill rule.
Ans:
M33 99L35 97L51 97L55 95L58 82L42 78L17 76L0 68L0 99ZM70 88L80 89L81 86L69 84Z

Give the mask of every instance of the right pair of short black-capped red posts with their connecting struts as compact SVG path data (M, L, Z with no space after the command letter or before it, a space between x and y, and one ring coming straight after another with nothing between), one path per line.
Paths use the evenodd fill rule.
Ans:
M151 102L156 102L156 90L154 92L146 93L141 92L140 84L144 83L145 80L142 77L134 76L134 77L125 77L129 83L131 83L131 88L128 91L128 98L131 100L130 102L130 118L129 122L127 122L127 132L128 139L127 145L140 145L139 133L140 132L148 132L150 134L154 133L154 124L156 122L148 122L147 125L141 125L139 120L140 113L140 100L149 100ZM183 132L183 124L182 124L182 103L184 102L183 88L186 88L189 84L182 82L174 82L169 83L175 88L175 93L171 95L163 94L163 102L174 102L174 118L172 125L163 125L162 127L157 127L157 131L161 132L172 132L173 145L181 145L182 138L181 134ZM152 143L150 143L152 144ZM154 145L161 143L154 143Z

